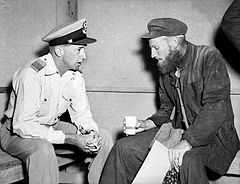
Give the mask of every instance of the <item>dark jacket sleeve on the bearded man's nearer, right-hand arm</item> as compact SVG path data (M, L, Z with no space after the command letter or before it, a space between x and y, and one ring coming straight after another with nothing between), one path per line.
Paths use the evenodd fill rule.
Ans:
M227 106L230 100L230 80L219 52L207 56L202 75L204 89L201 109L183 135L183 139L193 147L209 144L219 127L229 118Z

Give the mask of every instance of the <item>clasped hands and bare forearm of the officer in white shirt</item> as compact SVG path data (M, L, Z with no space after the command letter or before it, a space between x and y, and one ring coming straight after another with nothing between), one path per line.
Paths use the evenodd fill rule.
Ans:
M96 154L101 147L102 137L96 132L91 131L88 134L67 134L66 144L72 144L86 153Z

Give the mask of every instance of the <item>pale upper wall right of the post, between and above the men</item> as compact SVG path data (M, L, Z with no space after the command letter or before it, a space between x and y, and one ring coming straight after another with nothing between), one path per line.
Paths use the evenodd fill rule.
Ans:
M88 20L88 32L98 42L88 47L88 86L93 88L152 90L154 83L140 36L156 17L176 17L188 24L187 39L214 45L219 22L231 0L79 0L79 17ZM148 58L147 58L148 59ZM114 75L113 75L114 74ZM231 73L237 84L239 76Z

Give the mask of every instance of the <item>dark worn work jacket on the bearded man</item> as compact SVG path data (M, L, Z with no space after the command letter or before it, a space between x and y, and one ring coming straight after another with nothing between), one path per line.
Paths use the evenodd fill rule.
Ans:
M207 156L211 168L224 174L240 149L225 61L216 48L196 46L188 42L179 68L180 90L189 128L186 129L182 122L175 71L160 76L160 109L150 119L161 126L168 122L175 106L173 126L185 129L183 139L193 149L208 146L210 151Z

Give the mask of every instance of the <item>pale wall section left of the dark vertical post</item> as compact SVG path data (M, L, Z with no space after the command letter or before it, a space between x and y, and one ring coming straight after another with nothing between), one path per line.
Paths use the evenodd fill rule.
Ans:
M47 8L46 8L47 7ZM0 1L0 84L7 86L11 74L42 47L41 37L56 25L56 2L47 0Z

